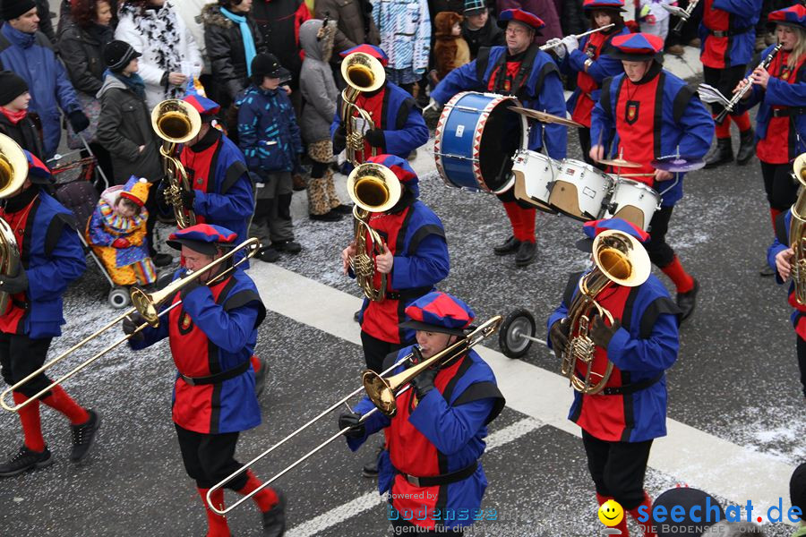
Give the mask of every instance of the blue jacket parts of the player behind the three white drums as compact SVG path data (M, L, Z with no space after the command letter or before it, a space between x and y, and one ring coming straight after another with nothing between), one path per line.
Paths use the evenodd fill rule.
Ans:
M590 139L601 140L605 148L613 148L613 157L618 156L619 145L614 114L625 76L622 72L604 81L601 98L593 109L590 121ZM685 81L664 69L660 69L656 76L664 77L664 81L660 129L656 125L656 136L651 141L655 158L676 155L678 150L685 157L705 157L714 137L714 120L710 112ZM662 206L673 207L682 198L684 175L676 174L676 179L652 185L663 198Z

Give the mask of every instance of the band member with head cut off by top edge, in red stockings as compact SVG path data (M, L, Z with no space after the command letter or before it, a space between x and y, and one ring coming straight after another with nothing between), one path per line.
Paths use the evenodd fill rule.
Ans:
M703 80L723 95L730 95L744 78L747 64L753 57L761 4L761 0L703 0L695 8L696 11L702 10L699 60ZM711 105L715 121L724 109L718 103ZM747 111L734 110L725 115L722 123L716 124L716 146L706 157L706 167L733 161L731 121L739 127L736 163L745 165L753 158L755 136L750 127L750 115Z

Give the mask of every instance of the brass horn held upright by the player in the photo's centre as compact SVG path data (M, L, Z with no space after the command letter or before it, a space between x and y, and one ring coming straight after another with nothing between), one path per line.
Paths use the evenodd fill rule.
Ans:
M365 162L350 172L347 177L347 193L355 201L356 256L350 259L350 267L356 273L356 282L364 295L379 302L386 295L386 275L381 275L381 286L375 288L374 257L383 252L383 241L369 225L372 213L385 212L394 207L401 196L400 182L388 167Z

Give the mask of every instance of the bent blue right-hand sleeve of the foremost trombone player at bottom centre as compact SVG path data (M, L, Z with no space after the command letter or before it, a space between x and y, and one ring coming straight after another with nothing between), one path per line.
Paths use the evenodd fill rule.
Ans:
M478 434L493 410L494 399L486 397L464 405L450 406L433 389L419 401L408 422L423 433L440 452L452 455Z

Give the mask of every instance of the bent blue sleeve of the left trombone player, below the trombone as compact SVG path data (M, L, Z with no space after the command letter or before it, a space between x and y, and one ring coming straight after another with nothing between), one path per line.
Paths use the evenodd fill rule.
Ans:
M210 342L227 353L236 353L249 343L259 314L254 302L225 310L213 299L208 286L198 286L186 294L182 308Z

